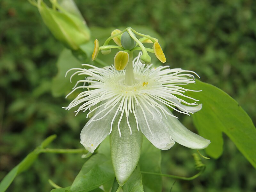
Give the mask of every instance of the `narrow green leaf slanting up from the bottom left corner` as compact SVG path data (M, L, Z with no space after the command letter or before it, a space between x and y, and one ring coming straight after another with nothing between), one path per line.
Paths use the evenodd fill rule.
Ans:
M20 174L21 172L26 171L37 159L40 154L40 148L44 148L49 145L54 139L56 135L51 135L47 137L40 147L37 147L34 151L29 153L18 165L16 165L0 182L0 192L4 192L12 183L14 178Z

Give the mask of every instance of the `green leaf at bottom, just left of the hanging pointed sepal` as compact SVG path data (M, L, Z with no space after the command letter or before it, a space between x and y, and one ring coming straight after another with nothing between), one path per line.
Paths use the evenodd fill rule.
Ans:
M87 192L115 178L111 160L103 154L93 155L85 162L70 187L72 192Z

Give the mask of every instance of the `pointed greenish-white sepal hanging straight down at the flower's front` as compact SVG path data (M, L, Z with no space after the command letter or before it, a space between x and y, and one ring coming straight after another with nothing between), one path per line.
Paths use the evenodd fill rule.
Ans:
M121 137L119 136L117 129L118 120L114 122L113 130L110 134L112 163L116 174L116 180L121 186L129 179L138 164L143 140L141 131L136 129L136 120L133 114L130 114L129 116L129 123L132 128L132 134L130 133L125 115L120 123Z

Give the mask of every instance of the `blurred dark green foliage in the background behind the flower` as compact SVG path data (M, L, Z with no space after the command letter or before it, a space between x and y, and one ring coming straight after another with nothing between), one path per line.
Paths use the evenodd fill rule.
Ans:
M142 25L164 38L172 68L196 71L236 99L256 124L256 1L254 0L86 0L76 1L89 27ZM53 148L82 148L84 114L62 109L53 97L52 78L63 50L26 0L0 1L0 180L41 141L58 138ZM110 34L109 34L110 35ZM192 119L182 123L196 132ZM193 181L163 178L163 191L256 191L252 165L224 137L223 155L203 160L206 171ZM164 151L163 173L195 173L192 149L176 144ZM84 160L79 154L42 154L7 191L50 191L48 179L62 187L72 183Z

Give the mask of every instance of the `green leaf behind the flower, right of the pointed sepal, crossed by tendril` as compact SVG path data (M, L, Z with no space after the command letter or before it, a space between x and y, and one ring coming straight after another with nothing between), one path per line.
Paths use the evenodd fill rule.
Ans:
M139 165L141 171L161 173L161 150L154 147L146 137L143 138ZM145 192L162 191L162 177L142 174L142 183Z

